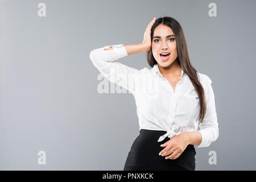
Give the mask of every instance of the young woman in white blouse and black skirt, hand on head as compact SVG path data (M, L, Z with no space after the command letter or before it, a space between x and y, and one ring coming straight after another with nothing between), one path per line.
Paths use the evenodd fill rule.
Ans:
M138 52L147 52L150 69L117 61ZM180 24L168 16L154 18L142 43L94 49L90 59L136 101L139 135L123 169L195 170L194 145L208 147L216 140L218 122L212 80L192 67Z

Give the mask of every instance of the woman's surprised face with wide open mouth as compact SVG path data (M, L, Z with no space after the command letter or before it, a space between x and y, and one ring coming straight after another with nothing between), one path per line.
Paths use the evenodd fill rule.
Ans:
M170 36L171 35L171 36ZM170 55L164 57L160 53L168 52ZM162 67L168 67L177 58L176 38L172 29L164 24L159 24L154 31L152 39L152 54Z

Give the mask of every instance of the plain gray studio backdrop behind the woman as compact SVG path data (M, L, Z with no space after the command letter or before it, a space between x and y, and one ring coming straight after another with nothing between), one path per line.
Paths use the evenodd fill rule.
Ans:
M47 16L37 7L46 3ZM217 17L208 5L217 5ZM122 170L139 134L132 94L99 94L95 48L141 43L154 16L183 27L212 82L220 136L196 170L256 169L256 1L0 1L0 169ZM148 67L146 52L123 64ZM38 151L46 151L46 165ZM208 163L209 151L217 164Z

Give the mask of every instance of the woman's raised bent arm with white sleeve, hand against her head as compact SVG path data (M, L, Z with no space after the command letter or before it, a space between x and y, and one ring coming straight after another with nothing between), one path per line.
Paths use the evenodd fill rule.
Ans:
M94 49L90 52L93 65L107 77L109 81L122 86L134 94L135 78L141 71L119 63L119 59L133 53L145 52L151 48L151 27L155 19L151 20L144 32L144 39L139 44L117 44Z

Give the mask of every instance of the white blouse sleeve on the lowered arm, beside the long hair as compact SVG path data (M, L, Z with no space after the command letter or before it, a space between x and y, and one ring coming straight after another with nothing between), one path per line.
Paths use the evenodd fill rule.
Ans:
M200 147L208 147L210 143L215 141L218 138L218 122L217 122L217 113L215 108L215 101L214 101L214 93L212 89L212 80L205 75L206 77L206 92L205 92L205 99L207 104L207 111L205 113L205 117L203 121L199 124L202 140Z

